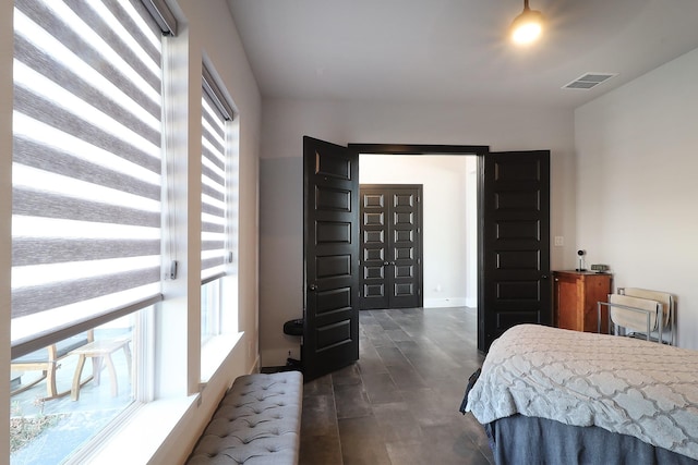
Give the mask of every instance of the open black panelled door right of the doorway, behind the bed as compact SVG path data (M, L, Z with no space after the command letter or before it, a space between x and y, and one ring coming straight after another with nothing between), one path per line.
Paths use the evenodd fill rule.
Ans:
M550 151L484 155L480 163L478 348L508 328L551 325Z

